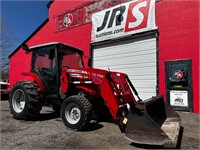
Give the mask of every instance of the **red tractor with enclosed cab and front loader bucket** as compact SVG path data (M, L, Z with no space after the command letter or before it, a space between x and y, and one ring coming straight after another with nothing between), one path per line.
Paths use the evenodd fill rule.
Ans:
M82 130L92 114L102 117L107 109L130 141L176 147L180 117L161 95L141 100L125 73L84 68L83 51L75 47L54 42L23 49L32 53L31 71L23 73L31 80L11 90L15 119L36 119L49 105L60 110L67 128Z

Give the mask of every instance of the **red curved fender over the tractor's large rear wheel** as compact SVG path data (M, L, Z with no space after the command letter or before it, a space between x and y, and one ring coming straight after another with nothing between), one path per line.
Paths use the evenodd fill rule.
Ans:
M44 94L44 86L40 80L40 78L33 72L22 72L21 74L22 76L29 76L31 78L33 78L33 80L37 83L37 85L39 86L42 95Z

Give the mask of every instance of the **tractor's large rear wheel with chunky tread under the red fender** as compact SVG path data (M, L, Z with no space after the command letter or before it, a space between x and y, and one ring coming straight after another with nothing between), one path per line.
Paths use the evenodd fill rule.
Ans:
M35 120L42 109L40 98L41 91L37 84L17 82L10 92L11 114L17 120Z

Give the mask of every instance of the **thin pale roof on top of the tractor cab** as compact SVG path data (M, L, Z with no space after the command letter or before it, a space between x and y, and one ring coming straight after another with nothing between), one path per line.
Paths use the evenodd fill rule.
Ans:
M39 45L35 45L35 46L30 46L29 49L33 50L35 48L41 48L41 47L46 47L46 46L56 46L56 47L68 47L72 50L78 51L80 53L83 53L83 51L79 48L73 47L71 45L68 44L63 44L63 43L59 43L59 42L50 42L50 43L45 43L45 44L39 44Z

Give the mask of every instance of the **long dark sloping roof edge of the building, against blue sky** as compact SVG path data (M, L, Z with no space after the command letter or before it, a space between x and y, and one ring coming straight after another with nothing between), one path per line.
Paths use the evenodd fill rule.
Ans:
M42 27L44 27L47 22L49 21L49 18L47 18L23 43L27 43L38 31L40 31L40 29L42 29ZM21 44L8 56L8 58L10 59L19 49L21 48Z

